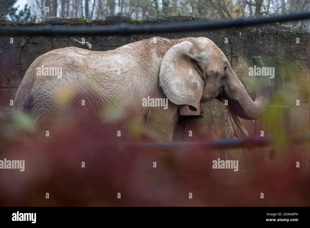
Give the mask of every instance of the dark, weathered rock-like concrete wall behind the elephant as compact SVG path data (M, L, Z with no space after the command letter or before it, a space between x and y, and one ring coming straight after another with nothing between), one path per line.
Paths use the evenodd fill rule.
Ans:
M15 23L16 26L106 26L127 23L159 24L159 23L193 23L207 19L191 18L186 16L167 16L135 21L124 16L111 16L104 20L72 21L55 18L42 23ZM6 26L10 22L0 19ZM210 22L211 23L211 22ZM290 128L291 134L303 133L309 130L309 33L305 29L290 28L277 24L251 26L241 29L217 29L208 31L185 31L165 34L142 34L130 36L74 36L74 37L44 37L44 36L16 36L14 43L10 37L2 37L0 44L0 106L5 110L12 110L10 100L14 100L15 93L21 83L29 65L38 56L63 47L80 47L93 51L113 50L122 45L154 36L165 38L207 37L224 52L235 73L244 83L250 96L255 98L255 78L249 76L249 67L253 66L252 56L262 56L265 66L275 67L275 78L270 79L272 93L271 105L291 107ZM85 38L86 44L80 41ZM224 39L228 38L228 43ZM296 38L300 42L296 43ZM296 100L300 105L296 105ZM227 118L224 106L216 100L201 104L204 118L179 118L175 129L175 141L202 141L207 139L239 138L243 137L240 130ZM253 121L241 120L252 136ZM193 136L188 136L188 131ZM274 149L274 150L272 150ZM221 159L238 159L239 175L245 175L253 163L272 165L281 159L286 150L278 147L253 149L230 149L215 151L215 157ZM309 173L309 149L307 145L298 145L287 148L292 161L300 162L300 169ZM208 151L206 151L208 153ZM230 172L231 173L231 172ZM228 180L233 181L228 175Z

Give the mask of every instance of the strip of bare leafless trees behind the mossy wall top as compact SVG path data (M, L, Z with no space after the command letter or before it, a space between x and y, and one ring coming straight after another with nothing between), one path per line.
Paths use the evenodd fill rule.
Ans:
M182 12L184 14L223 16L229 18L272 16L310 10L310 0L28 0L32 15L39 17L97 16L122 13L137 16ZM160 6L159 4L162 3ZM50 13L45 12L49 7ZM52 8L51 8L52 7ZM189 12L189 7L193 11ZM59 15L58 15L59 16ZM138 17L136 17L138 19ZM299 24L305 21L299 21ZM296 23L297 25L297 23Z

